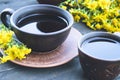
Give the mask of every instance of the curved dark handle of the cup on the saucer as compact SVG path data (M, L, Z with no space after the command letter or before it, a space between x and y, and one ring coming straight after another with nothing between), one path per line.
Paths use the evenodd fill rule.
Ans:
M10 8L4 9L0 13L0 18L2 23L7 27L11 29L11 24L10 24L10 16L13 14L14 10Z

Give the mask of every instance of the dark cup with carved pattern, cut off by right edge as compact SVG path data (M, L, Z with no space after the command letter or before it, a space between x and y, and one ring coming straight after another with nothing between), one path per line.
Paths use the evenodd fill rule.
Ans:
M85 34L78 43L79 60L89 80L114 80L120 73L120 37L107 32Z

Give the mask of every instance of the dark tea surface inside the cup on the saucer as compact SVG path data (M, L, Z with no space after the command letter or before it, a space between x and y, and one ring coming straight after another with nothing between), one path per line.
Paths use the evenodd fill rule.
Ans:
M17 26L25 32L41 34L59 31L67 27L67 21L54 15L33 14L20 19Z

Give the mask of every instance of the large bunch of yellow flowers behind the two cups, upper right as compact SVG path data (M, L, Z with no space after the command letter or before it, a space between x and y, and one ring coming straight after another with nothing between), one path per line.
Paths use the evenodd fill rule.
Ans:
M120 0L66 0L59 6L93 30L120 32Z

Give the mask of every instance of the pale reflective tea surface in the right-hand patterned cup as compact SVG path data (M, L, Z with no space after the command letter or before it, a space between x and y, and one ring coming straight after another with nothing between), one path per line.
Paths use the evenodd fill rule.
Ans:
M81 45L82 50L98 59L103 60L120 60L120 43L116 40L95 37L87 39Z

